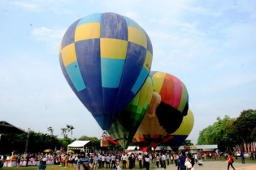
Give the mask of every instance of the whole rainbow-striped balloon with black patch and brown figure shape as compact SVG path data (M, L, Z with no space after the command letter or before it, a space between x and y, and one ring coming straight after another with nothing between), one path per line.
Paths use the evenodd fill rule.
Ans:
M163 72L150 72L154 93L138 130L155 148L167 134L175 132L187 114L189 95L184 83Z

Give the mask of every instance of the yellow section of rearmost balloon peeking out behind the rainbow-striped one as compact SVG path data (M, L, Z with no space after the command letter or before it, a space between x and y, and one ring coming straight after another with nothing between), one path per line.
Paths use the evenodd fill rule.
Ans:
M180 127L170 135L189 135L193 130L194 117L192 111L189 109L187 116L183 117Z

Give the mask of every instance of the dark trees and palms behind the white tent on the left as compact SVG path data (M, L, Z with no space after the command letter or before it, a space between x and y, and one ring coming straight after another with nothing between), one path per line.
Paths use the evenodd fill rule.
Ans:
M67 151L67 145L75 140L89 140L87 147L93 147L96 150L109 150L115 149L115 151L121 151L120 146L115 146L110 143L109 147L100 147L100 139L96 137L81 136L80 138L72 138L72 130L75 127L72 125L66 125L61 128L63 138L58 138L57 135L53 135L52 127L48 128L50 134L43 134L41 132L35 132L29 130L27 134L2 134L0 140L0 155L11 155L12 151L23 154L26 150L29 153L43 152L46 149L52 151L60 150L64 147Z

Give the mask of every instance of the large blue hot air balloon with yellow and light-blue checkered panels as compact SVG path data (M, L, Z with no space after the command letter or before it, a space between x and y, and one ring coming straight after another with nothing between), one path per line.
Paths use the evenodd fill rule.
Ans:
M67 83L102 130L108 130L137 95L150 73L152 56L146 32L115 13L76 20L59 49Z

